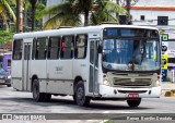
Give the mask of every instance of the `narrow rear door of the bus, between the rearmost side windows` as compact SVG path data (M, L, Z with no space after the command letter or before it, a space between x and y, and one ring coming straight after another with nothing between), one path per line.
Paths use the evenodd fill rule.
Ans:
M30 83L30 65L31 65L31 42L24 42L24 57L23 57L23 90L31 90Z

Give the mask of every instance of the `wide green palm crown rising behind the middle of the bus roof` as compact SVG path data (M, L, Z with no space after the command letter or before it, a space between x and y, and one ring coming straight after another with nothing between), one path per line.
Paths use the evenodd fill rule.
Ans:
M81 14L84 15L84 26L98 24L103 21L118 22L114 13L126 13L120 5L110 0L67 0L42 11L37 17L52 15L46 23L48 25L80 25ZM91 22L89 22L89 19Z

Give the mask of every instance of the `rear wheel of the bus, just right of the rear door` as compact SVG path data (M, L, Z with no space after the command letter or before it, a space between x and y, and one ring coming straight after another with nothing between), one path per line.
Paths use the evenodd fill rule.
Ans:
M34 79L32 90L33 90L33 99L35 101L43 101L44 100L45 94L39 93L39 82L38 82L38 79Z

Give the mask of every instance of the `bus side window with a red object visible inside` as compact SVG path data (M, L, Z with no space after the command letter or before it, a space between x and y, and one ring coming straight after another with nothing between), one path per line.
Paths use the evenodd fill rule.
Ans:
M72 59L74 50L74 36L63 36L61 40L61 59Z

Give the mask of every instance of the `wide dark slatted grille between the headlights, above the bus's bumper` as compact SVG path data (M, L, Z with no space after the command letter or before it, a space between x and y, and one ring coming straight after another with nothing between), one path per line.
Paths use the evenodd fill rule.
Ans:
M116 86L150 86L152 83L151 78L114 78L114 85Z

